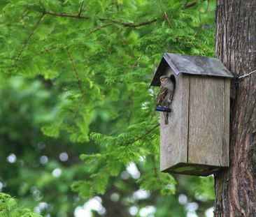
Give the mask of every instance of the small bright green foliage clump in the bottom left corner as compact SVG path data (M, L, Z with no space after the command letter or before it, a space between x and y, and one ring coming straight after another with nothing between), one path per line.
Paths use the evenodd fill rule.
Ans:
M28 208L17 207L17 200L10 195L0 193L0 216L1 217L40 217Z

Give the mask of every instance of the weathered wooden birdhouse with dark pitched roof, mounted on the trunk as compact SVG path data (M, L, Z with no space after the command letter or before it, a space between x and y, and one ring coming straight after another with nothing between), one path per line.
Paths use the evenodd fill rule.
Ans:
M233 77L220 60L166 53L159 77L175 80L168 124L160 112L162 172L208 176L229 166L229 100Z

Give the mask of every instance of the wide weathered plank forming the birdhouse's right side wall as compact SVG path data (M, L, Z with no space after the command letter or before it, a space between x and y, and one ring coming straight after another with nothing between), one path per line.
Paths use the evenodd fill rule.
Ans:
M190 77L188 162L224 165L224 79Z

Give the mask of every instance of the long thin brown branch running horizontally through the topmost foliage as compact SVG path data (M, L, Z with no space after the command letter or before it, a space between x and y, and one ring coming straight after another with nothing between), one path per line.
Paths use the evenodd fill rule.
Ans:
M54 12L50 12L50 11L45 11L45 14L52 15L52 16L55 16L55 17L69 17L69 18L75 18L75 19L80 19L80 20L90 20L90 17L81 16L79 13L77 15L73 15L73 14L67 14L67 13L54 13ZM133 22L120 22L118 20L113 20L113 19L107 18L107 17L100 17L98 20L102 21L102 22L108 21L108 22L112 22L113 24L120 24L123 27L134 27L134 28L135 27L142 27L142 26L157 22L157 18L154 18L152 20L148 20L148 21L145 21L145 22L139 22L137 24L133 23Z

